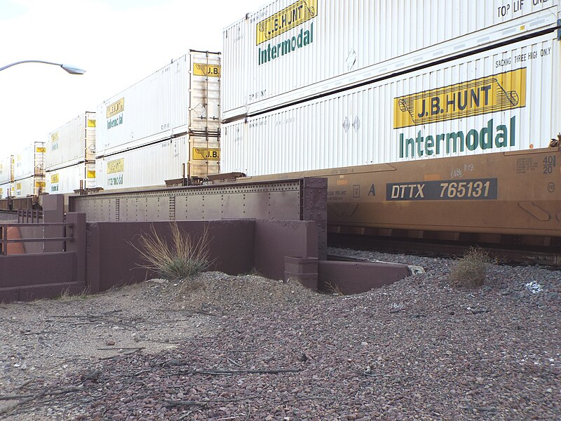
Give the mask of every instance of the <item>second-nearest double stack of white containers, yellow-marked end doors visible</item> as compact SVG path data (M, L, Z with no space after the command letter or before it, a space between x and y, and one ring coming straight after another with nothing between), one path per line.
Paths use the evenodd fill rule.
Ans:
M191 50L97 107L97 187L219 171L220 54Z

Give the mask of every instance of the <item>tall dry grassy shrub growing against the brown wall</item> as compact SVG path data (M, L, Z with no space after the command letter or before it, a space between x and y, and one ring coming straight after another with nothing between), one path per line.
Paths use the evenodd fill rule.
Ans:
M149 234L140 234L138 250L145 269L156 272L163 279L175 281L204 272L210 266L208 250L208 230L194 242L189 233L184 232L177 222L170 222L171 238L166 239L156 233L154 225Z

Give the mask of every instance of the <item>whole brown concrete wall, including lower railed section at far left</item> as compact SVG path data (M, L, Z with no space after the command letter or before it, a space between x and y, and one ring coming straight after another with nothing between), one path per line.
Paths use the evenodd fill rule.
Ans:
M170 222L91 222L83 213L68 213L64 253L44 252L0 256L0 302L52 298L64 290L97 293L113 286L144 281L156 274L140 267L135 250L142 232L153 226L163 237ZM318 255L317 227L313 221L213 220L178 221L194 236L208 229L210 270L243 274L257 269L264 276L283 279L285 256Z

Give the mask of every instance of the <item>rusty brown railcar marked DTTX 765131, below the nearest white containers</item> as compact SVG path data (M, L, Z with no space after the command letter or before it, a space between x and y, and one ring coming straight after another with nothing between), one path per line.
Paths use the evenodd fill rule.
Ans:
M561 150L285 173L327 178L330 232L561 246Z

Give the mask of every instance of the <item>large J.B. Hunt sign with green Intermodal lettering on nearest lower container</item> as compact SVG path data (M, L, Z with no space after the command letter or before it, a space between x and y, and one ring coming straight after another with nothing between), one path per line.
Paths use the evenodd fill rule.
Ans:
M526 68L395 98L393 128L406 128L526 106ZM516 116L508 126L489 119L485 127L416 138L399 135L400 158L514 146ZM496 135L495 135L496 131Z

